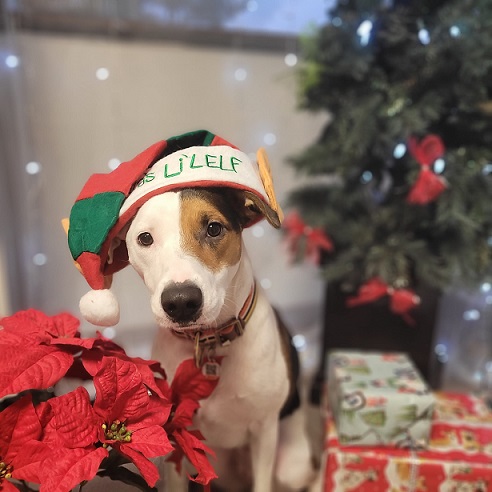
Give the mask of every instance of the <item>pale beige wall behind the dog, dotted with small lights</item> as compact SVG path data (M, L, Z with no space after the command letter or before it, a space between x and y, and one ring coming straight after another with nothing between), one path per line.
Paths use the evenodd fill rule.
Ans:
M27 276L22 303L50 314L78 314L88 290L72 266L60 219L88 176L108 171L111 158L124 161L157 140L206 128L245 152L265 146L285 203L297 179L286 158L312 142L324 121L298 111L295 69L282 53L28 33L14 41L17 117L25 128L14 181L23 181L29 195L15 204L29 243L18 251ZM105 80L96 77L101 67L109 71ZM238 69L244 80L236 79ZM276 141L270 136L266 145L266 134ZM27 175L26 161L38 162L41 172ZM246 242L271 300L285 312L309 313L299 323L312 323L321 296L316 269L289 265L281 233L266 222L248 231ZM36 248L45 257L33 266ZM153 323L147 293L130 268L113 286L119 329Z

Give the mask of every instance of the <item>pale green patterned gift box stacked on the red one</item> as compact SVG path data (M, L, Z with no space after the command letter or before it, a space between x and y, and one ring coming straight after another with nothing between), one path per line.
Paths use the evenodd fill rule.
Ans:
M328 396L342 445L428 442L434 396L405 354L331 352Z

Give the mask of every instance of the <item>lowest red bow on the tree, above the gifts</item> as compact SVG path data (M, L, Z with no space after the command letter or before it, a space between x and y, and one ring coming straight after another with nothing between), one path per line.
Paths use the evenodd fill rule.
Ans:
M409 325L415 324L409 312L420 304L420 297L412 290L390 287L377 277L361 285L357 296L347 299L347 305L354 307L367 304L377 301L386 295L390 298L391 311L400 315Z

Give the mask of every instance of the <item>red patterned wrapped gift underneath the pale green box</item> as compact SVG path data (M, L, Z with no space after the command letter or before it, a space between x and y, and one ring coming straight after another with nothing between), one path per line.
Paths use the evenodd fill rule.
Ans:
M327 418L325 492L492 492L492 413L479 399L436 394L429 447L340 446Z

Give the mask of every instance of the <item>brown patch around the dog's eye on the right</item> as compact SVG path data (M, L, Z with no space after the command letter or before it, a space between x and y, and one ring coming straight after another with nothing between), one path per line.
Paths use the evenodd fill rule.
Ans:
M211 271L241 257L237 198L226 189L186 189L181 194L182 247Z

